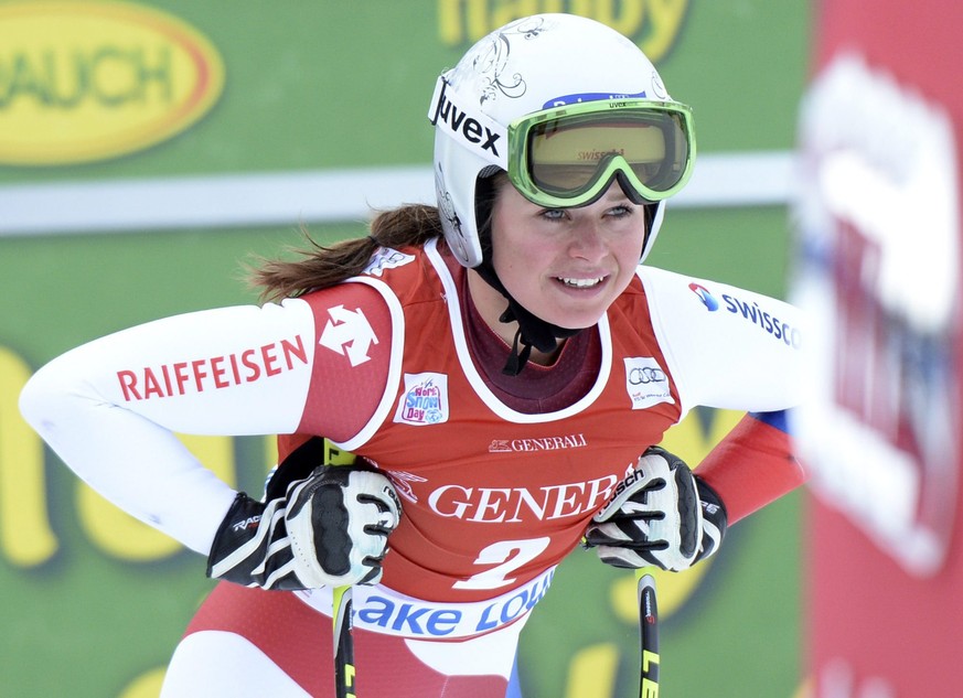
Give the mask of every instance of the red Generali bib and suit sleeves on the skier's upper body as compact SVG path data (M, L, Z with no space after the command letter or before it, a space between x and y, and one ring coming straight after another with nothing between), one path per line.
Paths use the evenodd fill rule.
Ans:
M382 248L365 273L299 299L73 350L38 372L22 408L104 496L205 555L235 493L173 432L286 434L281 458L324 436L365 457L404 516L356 625L456 640L524 616L639 454L693 407L770 412L799 398L795 309L652 267L514 390L473 350L463 276L443 244ZM717 452L700 472L730 520L801 481L785 434L752 417Z

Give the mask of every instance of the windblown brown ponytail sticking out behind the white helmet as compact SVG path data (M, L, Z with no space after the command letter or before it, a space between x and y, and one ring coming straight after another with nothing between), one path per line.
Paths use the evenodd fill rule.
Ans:
M307 230L307 248L292 249L300 259L260 260L250 272L250 282L261 289L261 299L277 301L303 296L308 291L340 283L361 273L378 246L420 247L441 235L438 208L408 204L378 213L371 222L370 235L319 245Z

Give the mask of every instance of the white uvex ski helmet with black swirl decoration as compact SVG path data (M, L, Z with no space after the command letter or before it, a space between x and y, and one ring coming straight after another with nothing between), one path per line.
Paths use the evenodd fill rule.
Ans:
M475 43L438 79L429 119L435 124L435 184L445 238L463 266L483 261L475 194L479 178L507 170L507 129L517 119L560 105L644 99L674 103L655 67L629 39L573 14L520 19ZM686 121L686 171L695 157ZM650 206L642 259L655 240L664 198ZM654 210L654 211L653 211Z

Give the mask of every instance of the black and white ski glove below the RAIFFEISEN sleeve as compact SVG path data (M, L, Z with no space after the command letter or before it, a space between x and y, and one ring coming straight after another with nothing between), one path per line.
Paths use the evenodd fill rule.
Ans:
M282 496L238 493L207 558L207 576L263 589L374 584L402 505L381 473L321 465Z

